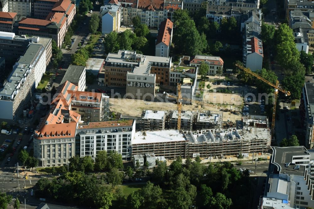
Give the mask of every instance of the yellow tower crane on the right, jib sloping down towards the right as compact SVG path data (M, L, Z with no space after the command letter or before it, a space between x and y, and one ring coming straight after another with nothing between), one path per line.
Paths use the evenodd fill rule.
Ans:
M274 97L274 106L273 106L273 120L272 120L272 136L274 134L274 129L275 129L275 116L276 116L276 101L277 101L277 97L278 97L278 90L281 91L282 93L285 94L285 96L289 96L290 95L290 91L285 90L284 88L282 88L282 86L279 84L279 81L276 81L276 84L273 84L271 82L269 82L268 80L266 80L265 78L261 77L260 75L252 72L250 69L245 68L243 66L240 66L238 64L236 64L237 67L239 67L241 70L243 70L246 73L251 74L252 76L256 77L258 80L263 81L264 83L267 83L268 85L272 86L273 88L275 88L275 97Z

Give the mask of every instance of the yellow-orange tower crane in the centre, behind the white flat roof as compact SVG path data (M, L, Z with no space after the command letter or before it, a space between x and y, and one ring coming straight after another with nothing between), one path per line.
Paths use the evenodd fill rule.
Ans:
M182 95L181 95L181 84L178 84L177 92L178 92L178 96L174 96L174 95L170 95L170 94L166 94L166 96L177 99L177 110L178 110L177 129L178 130L181 130L182 100L190 101L190 102L193 102L193 103L198 104L198 105L204 105L204 106L208 106L208 107L213 107L213 108L216 108L216 109L220 110L220 107L217 107L216 105L208 104L208 103L205 103L205 102L202 102L202 101L197 101L197 100L193 100L193 99L189 99L189 98L185 98L185 97L182 98ZM239 112L239 111L236 111L236 110L228 110L228 109L225 109L223 111L236 112L236 113Z

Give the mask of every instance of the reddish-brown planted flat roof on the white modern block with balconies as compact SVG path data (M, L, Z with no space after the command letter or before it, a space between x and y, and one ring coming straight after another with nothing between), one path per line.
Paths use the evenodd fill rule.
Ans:
M89 122L88 125L80 125L77 129L125 127L132 126L133 121L134 120Z

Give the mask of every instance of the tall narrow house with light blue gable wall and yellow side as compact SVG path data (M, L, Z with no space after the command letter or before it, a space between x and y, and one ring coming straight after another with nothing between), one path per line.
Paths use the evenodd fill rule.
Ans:
M122 16L121 3L111 0L107 5L100 7L101 33L108 34L119 31Z

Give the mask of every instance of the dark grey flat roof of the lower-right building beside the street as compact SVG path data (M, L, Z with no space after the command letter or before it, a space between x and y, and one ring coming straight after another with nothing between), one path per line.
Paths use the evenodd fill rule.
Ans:
M298 147L272 147L273 149L273 159L272 163L279 167L280 174L289 174L289 175L304 175L305 166L300 165L299 169L293 169L294 165L285 167L285 163L290 163L292 156L302 156L309 155L310 153L303 146Z

